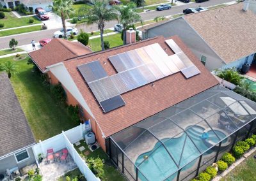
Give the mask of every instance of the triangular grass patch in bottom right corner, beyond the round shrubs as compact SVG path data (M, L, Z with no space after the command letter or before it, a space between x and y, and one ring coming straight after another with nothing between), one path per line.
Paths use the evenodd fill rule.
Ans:
M255 153L256 152L254 152L250 157L246 158L225 177L221 178L221 181L255 181L256 159L253 157Z

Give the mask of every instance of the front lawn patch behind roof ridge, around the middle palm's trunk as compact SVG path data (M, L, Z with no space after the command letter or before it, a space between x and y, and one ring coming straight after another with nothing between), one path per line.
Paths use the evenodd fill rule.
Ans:
M110 48L117 47L120 45L123 45L123 40L121 39L121 34L112 34L109 36L103 37L104 41L109 41ZM97 52L101 50L100 47L100 38L94 38L92 40L89 40L88 45L92 48L93 52Z

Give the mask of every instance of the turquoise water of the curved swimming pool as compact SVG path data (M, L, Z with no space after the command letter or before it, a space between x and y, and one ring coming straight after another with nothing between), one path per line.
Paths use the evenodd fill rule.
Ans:
M195 145L198 147L198 149L201 152L204 152L207 150L207 146L204 143L204 140L202 140L202 134L204 133L204 128L200 126L193 126L189 127L187 130L187 133L189 137L193 140ZM225 138L225 134L221 131L215 131L218 136L223 139ZM216 135L209 131L209 140L214 141L214 143L217 143L219 140L216 137ZM186 140L186 143L184 145L184 142ZM184 166L185 164L189 163L190 161L193 161L200 155L200 152L196 149L193 142L187 137L186 134L182 134L178 138L172 138L170 140L164 139L161 141L165 141L164 145L168 152L172 155L173 159L177 164L180 166ZM225 141L225 140L224 140ZM227 140L226 140L227 141ZM182 158L180 159L182 148L184 146ZM164 178L170 176L174 171L177 170L177 166L170 158L168 152L166 151L163 145L161 145L160 142L157 142L153 150L150 152L141 154L138 159L136 160L136 166L138 166L140 163L140 171L150 180L164 180ZM153 154L151 154L153 152ZM150 155L151 154L151 155ZM211 150L207 152L207 154L211 154ZM149 156L147 160L144 161L144 156ZM143 162L144 161L144 162ZM142 163L143 162L143 163ZM188 166L184 167L183 170L186 170L193 166L196 161L193 161ZM139 173L140 180L147 180L143 177L141 173ZM173 177L170 177L168 180L172 180L175 178L175 175Z

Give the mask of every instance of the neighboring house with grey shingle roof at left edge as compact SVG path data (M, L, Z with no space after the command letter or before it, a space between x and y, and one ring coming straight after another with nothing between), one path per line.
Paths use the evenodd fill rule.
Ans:
M0 99L0 174L5 175L36 162L31 148L36 141L6 73L0 73Z

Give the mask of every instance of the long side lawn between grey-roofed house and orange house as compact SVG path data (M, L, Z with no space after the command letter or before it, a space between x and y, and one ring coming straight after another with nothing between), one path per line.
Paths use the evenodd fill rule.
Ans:
M13 57L0 59L0 64L6 61L13 61ZM12 76L11 82L36 141L77 126L71 121L67 109L58 104L42 84L40 74L32 72L33 66L28 65L27 60L15 61L15 64L18 73Z

